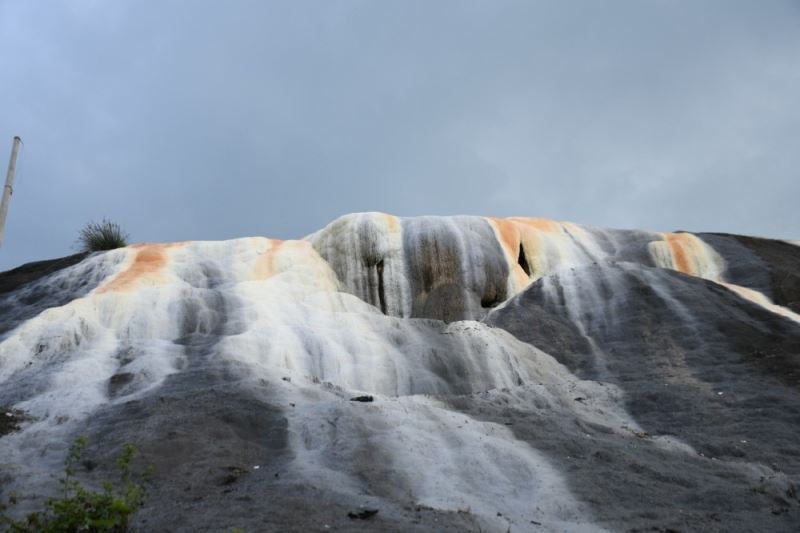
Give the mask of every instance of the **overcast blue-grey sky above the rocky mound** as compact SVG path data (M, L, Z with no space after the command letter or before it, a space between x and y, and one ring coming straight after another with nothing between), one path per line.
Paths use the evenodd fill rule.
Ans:
M800 238L800 2L0 0L0 270L354 211ZM0 178L2 179L2 178Z

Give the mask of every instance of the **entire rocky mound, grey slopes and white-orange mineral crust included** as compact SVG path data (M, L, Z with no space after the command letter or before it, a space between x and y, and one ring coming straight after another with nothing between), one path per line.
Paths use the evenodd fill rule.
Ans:
M88 483L125 442L154 465L142 530L796 531L798 267L382 213L26 265L0 274L0 496L40 504L86 434Z

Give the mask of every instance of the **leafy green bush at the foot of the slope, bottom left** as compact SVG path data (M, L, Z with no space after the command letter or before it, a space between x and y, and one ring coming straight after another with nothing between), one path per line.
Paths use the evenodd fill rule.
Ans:
M146 497L143 483L131 475L131 465L138 453L136 447L126 444L117 457L119 486L106 481L102 491L93 491L74 479L75 467L80 463L85 446L86 437L80 437L69 448L64 477L60 480L60 498L50 498L43 511L30 513L21 521L2 514L4 508L0 506L0 526L5 525L5 531L13 533L127 532L131 517ZM149 476L150 471L146 469L139 477ZM12 495L9 503L15 504L16 497Z

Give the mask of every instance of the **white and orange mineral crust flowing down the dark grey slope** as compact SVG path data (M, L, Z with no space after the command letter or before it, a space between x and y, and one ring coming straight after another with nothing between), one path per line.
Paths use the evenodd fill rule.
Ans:
M506 427L455 414L435 397L510 391L513 404L522 401L514 392L522 385L536 390L541 408L577 410L579 418L613 431L635 429L614 387L581 381L550 355L479 321L537 280L544 278L542 290L548 290L551 274L606 263L705 278L800 322L767 295L728 282L722 257L689 233L604 231L536 218L364 213L301 240L137 244L35 282L47 291L78 279L95 279L96 286L0 338L0 386L29 383L35 393L14 407L36 420L0 442L0 463L35 477L44 463L58 460L35 443L58 440L101 405L158 387L187 365L192 351L182 340L191 337L207 339L213 357L280 383L282 402L297 406L287 416L298 475L357 490L357 480L342 472L357 461L358 442L337 442L344 449L335 459L321 452L334 444L330 432L318 429L320 420L341 409L320 401L333 393L313 385L327 382L386 398L360 424L371 428L373 444L397 471L425 473L408 480L417 501L469 508L497 530L504 531L508 519L538 520L552 530L567 521L570 531L594 531L599 528L591 516L542 454L515 443ZM580 283L562 276L567 292L569 279ZM571 312L577 317L580 306L606 300L602 294L575 300ZM668 297L664 302L670 305ZM445 308L458 312L449 323L424 320L441 318ZM134 378L112 398L107 384L122 366ZM579 395L592 401L570 401ZM340 428L337 438L343 434L358 435L359 428ZM690 451L671 439L661 442Z

